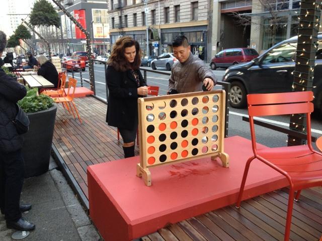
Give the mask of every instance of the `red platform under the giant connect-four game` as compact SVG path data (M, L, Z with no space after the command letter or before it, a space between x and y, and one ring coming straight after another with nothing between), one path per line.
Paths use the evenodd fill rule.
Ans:
M139 157L89 166L90 216L103 238L131 240L235 203L245 163L253 154L251 141L226 138L224 149L229 168L210 158L154 167L150 187L135 175ZM283 176L254 160L243 199L284 186Z

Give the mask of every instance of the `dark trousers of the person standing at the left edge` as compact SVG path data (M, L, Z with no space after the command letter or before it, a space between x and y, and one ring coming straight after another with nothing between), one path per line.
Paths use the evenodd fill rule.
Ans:
M0 152L0 208L7 221L21 218L20 194L24 183L25 164L21 149L4 154Z

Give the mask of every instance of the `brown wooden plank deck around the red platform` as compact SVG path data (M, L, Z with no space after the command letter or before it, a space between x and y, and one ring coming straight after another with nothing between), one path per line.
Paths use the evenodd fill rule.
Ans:
M58 106L53 144L88 197L87 166L123 158L116 128L105 123L106 104L94 97L75 99L83 124ZM138 151L138 149L136 149ZM288 189L171 224L142 240L283 240ZM322 235L322 187L303 190L293 209L291 240Z

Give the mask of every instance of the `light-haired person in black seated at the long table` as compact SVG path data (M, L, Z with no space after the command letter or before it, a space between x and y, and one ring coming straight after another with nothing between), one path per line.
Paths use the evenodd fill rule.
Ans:
M43 76L49 82L54 84L54 88L57 88L58 72L55 65L53 65L45 55L38 56L37 61L40 64L40 68L38 65L33 66L34 69L38 69L37 74Z

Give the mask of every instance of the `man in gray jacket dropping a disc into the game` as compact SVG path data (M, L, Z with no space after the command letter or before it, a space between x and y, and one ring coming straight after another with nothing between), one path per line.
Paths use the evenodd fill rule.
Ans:
M175 62L169 79L169 94L211 90L216 84L216 77L204 62L190 52L190 45L185 36L178 36L173 43Z

